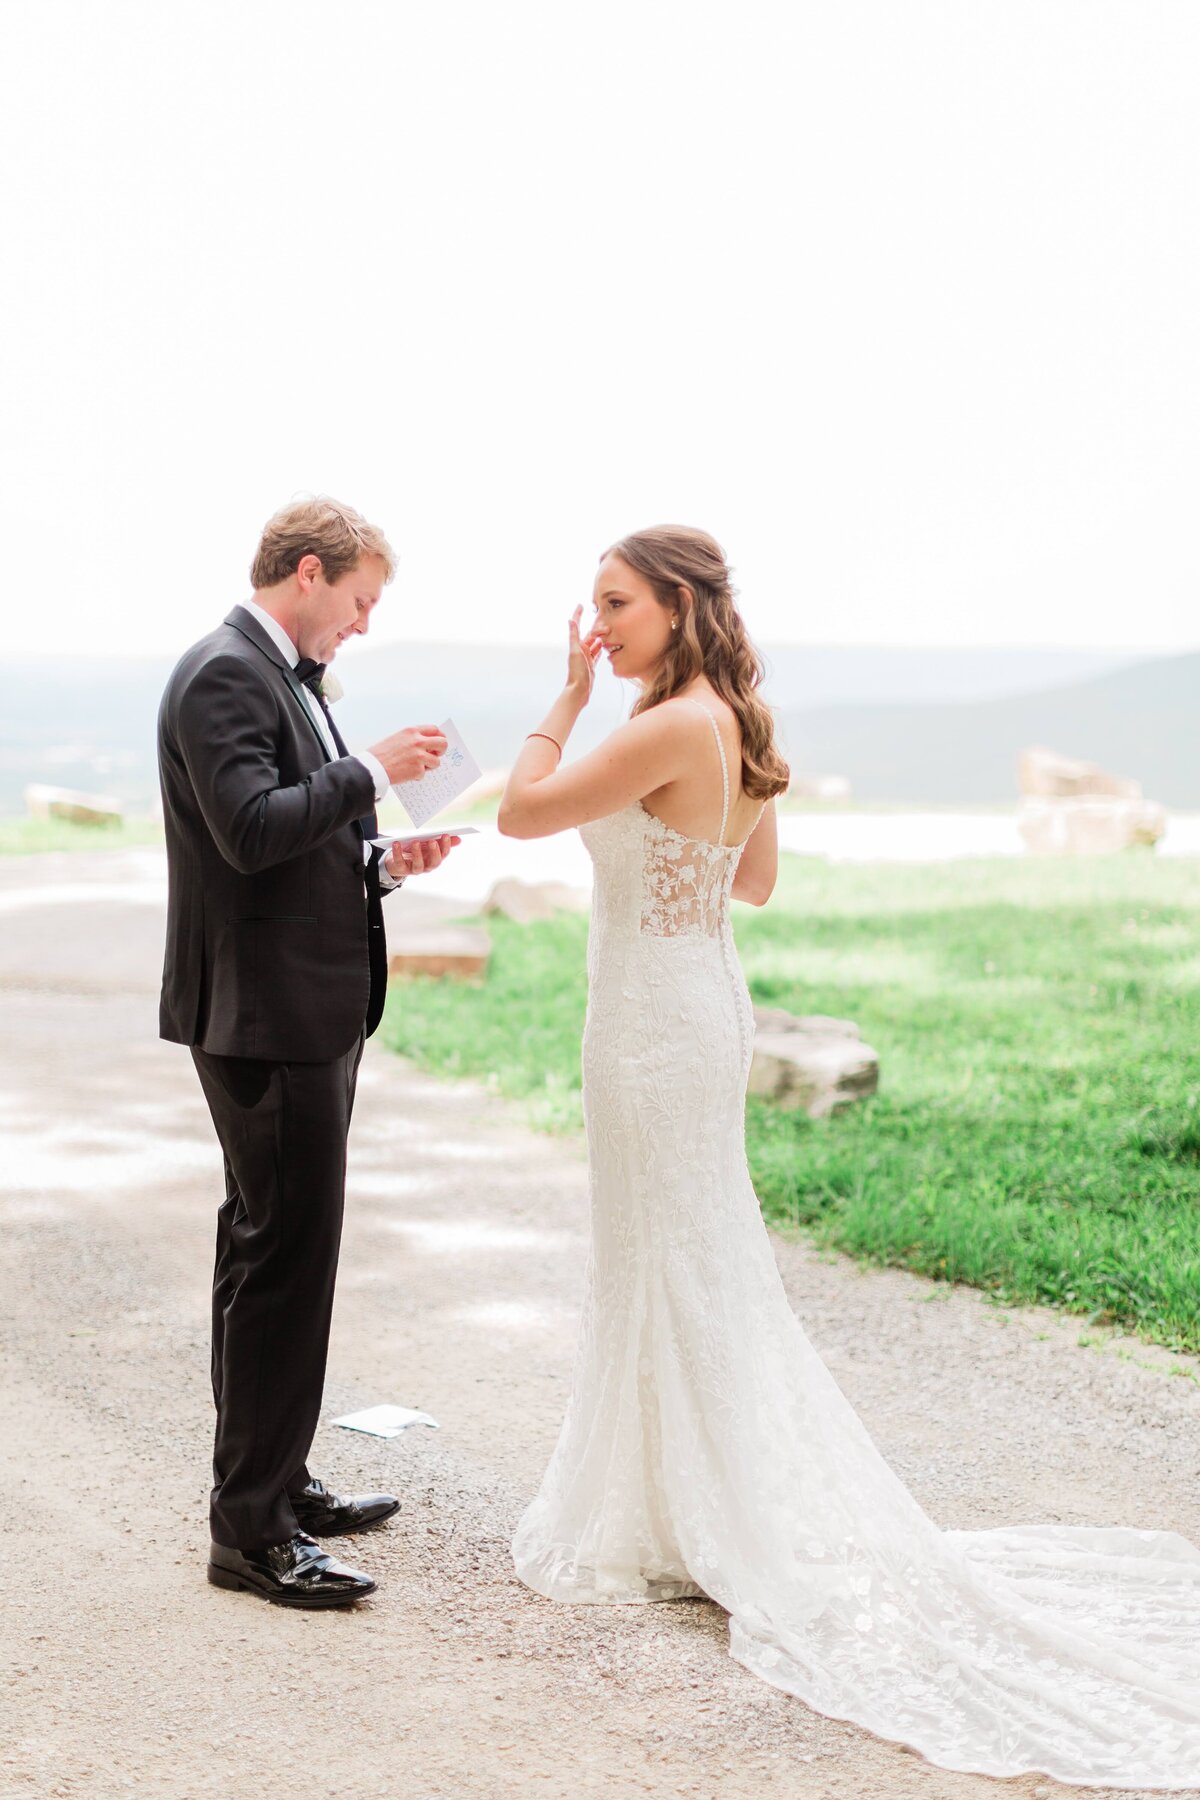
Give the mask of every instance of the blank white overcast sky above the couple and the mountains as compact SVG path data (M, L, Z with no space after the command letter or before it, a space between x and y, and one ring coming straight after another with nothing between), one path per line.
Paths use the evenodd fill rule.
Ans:
M752 632L1193 648L1200 7L7 0L9 652L184 648L264 517L387 639L714 531Z

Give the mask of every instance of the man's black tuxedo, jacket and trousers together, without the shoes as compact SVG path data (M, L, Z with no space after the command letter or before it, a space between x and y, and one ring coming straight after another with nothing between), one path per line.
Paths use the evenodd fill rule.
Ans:
M322 742L234 607L167 682L160 1033L189 1044L225 1152L212 1283L212 1537L290 1539L309 1480L342 1235L345 1136L387 985L374 783Z

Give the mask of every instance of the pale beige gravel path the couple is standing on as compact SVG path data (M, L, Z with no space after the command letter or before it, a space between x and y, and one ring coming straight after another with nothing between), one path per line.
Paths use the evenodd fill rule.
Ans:
M507 1535L570 1366L581 1152L383 1051L351 1141L326 1418L396 1400L441 1429L322 1426L318 1472L405 1499L344 1541L380 1579L354 1613L205 1584L219 1159L187 1053L155 1039L148 868L97 859L77 900L47 905L25 895L77 868L0 864L0 1795L1070 1793L945 1775L815 1717L729 1660L712 1606L572 1609L516 1582ZM1200 1364L802 1244L777 1255L937 1519L1200 1537Z

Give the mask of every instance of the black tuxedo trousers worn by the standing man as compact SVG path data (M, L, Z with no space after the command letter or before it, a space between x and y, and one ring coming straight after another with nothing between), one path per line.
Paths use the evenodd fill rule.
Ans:
M212 1057L193 1046L225 1152L212 1278L212 1541L279 1544L326 1382L342 1244L345 1138L363 1037L333 1062Z

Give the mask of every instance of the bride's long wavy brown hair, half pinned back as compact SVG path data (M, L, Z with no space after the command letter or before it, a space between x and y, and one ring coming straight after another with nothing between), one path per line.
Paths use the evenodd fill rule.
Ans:
M729 565L716 538L693 526L649 526L612 544L604 556L619 556L630 569L644 574L657 601L673 612L678 608L680 617L633 713L660 706L698 675L707 675L741 725L745 792L752 799L786 792L788 765L775 749L770 707L757 693L763 664L734 607Z

